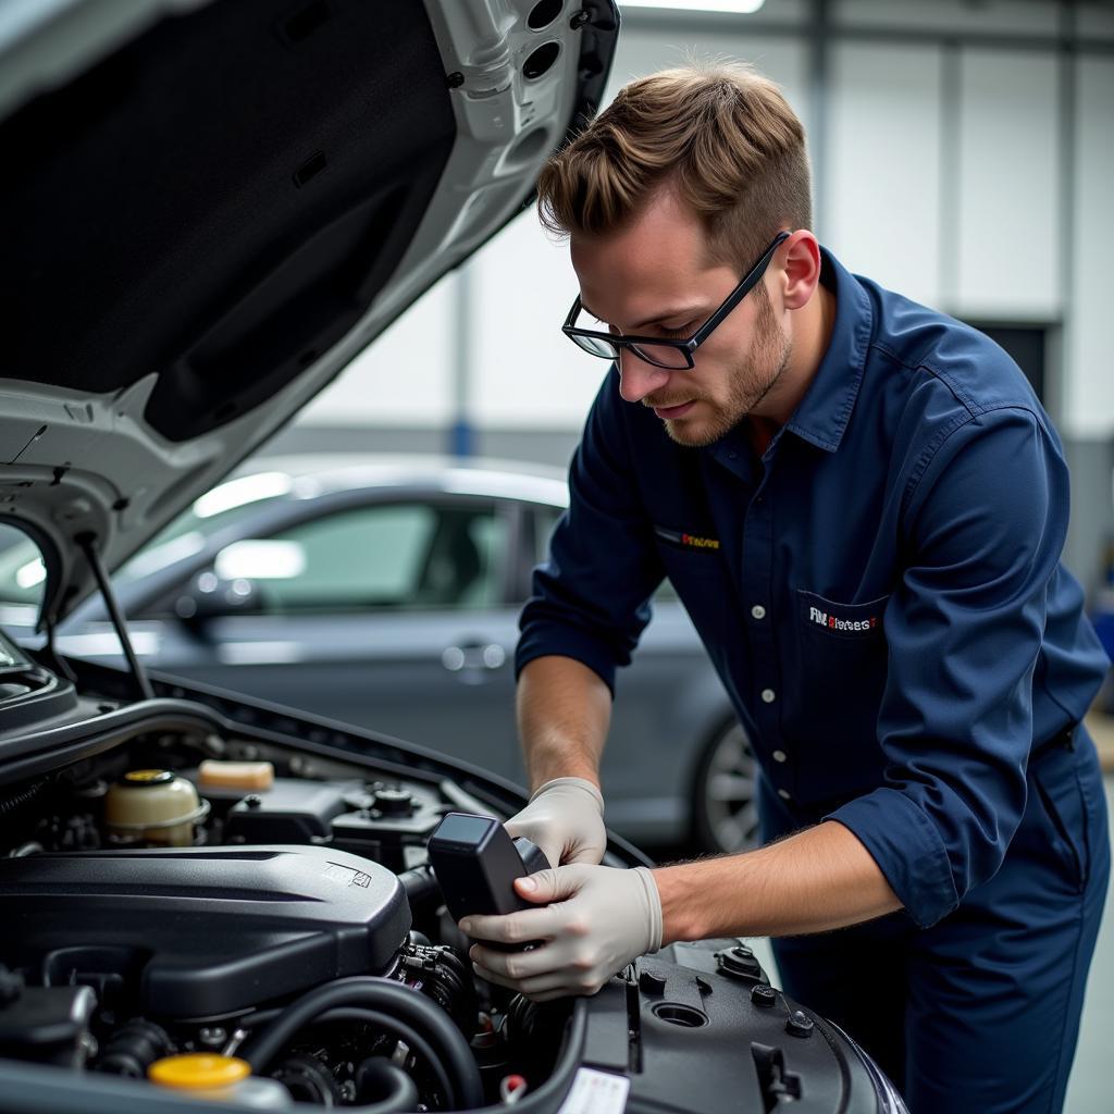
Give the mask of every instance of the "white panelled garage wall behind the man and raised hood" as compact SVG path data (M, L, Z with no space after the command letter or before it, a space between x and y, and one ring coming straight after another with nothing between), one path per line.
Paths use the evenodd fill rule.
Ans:
M758 14L633 9L608 99L687 52L754 62L810 135L817 232L853 271L969 320L1048 329L1047 404L1075 462L1069 560L1114 532L1114 6L778 0ZM422 299L275 443L450 443L567 459L602 361L558 325L576 292L532 214Z

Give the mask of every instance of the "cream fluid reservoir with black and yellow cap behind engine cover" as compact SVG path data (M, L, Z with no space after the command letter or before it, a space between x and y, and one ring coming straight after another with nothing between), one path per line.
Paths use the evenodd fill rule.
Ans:
M170 770L129 770L105 794L105 825L117 838L190 847L208 801Z

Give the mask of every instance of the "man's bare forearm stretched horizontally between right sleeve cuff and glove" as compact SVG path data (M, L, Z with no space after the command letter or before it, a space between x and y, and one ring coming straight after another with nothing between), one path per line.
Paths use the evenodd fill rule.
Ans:
M901 908L859 838L834 820L745 854L662 867L663 944L824 932Z

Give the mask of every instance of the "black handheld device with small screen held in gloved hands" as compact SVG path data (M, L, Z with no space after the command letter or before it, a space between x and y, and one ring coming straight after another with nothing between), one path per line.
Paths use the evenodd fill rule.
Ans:
M515 892L515 879L549 866L537 844L511 840L495 817L449 812L429 838L429 861L453 920L536 908Z

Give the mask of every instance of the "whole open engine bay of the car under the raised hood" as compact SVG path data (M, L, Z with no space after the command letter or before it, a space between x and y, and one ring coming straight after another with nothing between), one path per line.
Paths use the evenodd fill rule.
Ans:
M0 1079L89 1081L50 1108L557 1114L603 1085L616 1112L900 1110L740 940L674 944L590 998L478 979L427 843L450 812L505 820L511 786L216 691L155 680L135 701L70 664L38 666L57 684L16 694L19 734L0 731ZM622 841L605 859L638 861Z

